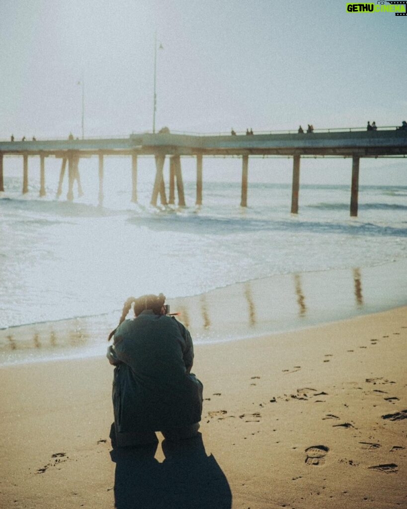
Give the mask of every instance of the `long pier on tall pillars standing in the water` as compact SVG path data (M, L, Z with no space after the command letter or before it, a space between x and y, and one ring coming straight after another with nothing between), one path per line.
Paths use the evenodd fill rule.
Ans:
M300 161L302 156L329 156L352 158L351 216L358 215L359 163L366 157L391 157L407 155L407 130L386 128L376 131L346 130L340 132L269 133L247 135L189 135L171 133L130 134L123 138L47 139L0 142L0 191L4 191L4 156L23 158L22 192L28 192L28 157L40 157L40 196L45 195L45 158L61 158L60 185L62 193L68 163L67 200L73 200L73 185L78 183L81 193L79 160L84 157L99 158L99 204L103 204L103 161L105 156L126 155L131 158L131 201L137 203L137 157L150 155L155 158L155 181L151 205L156 206L158 196L162 205L175 204L177 184L178 205L185 206L182 179L182 156L196 157L196 205L202 204L203 157L239 156L242 158L241 206L247 207L248 169L250 156L293 157L293 190L291 212L299 210ZM169 196L167 201L163 167L165 158L170 160Z

